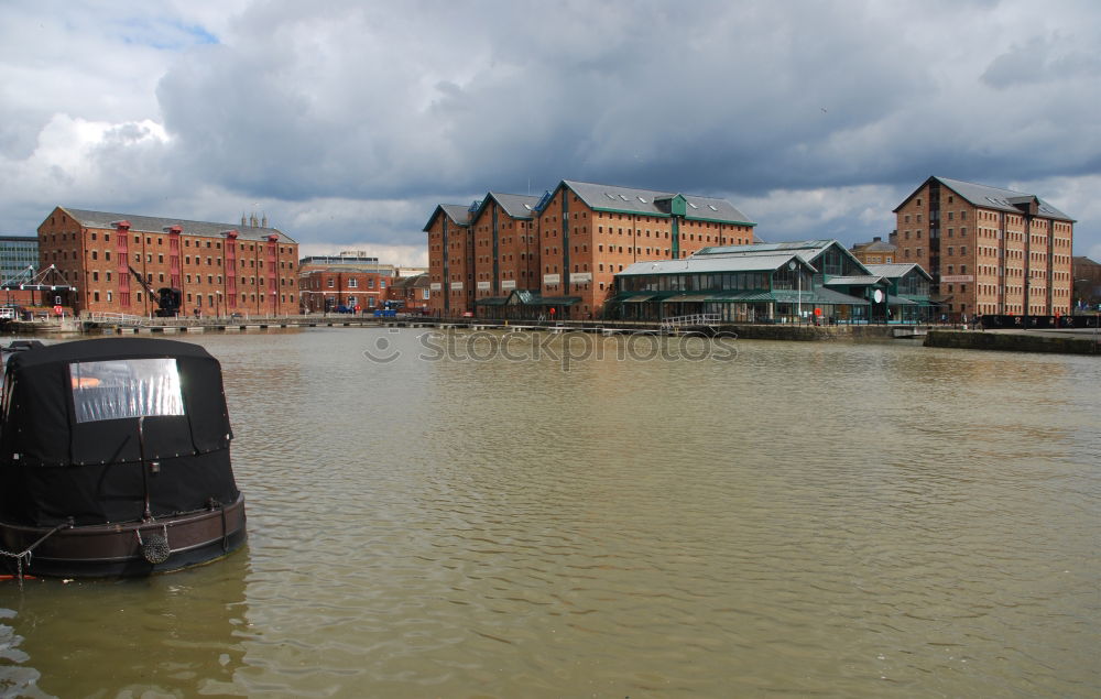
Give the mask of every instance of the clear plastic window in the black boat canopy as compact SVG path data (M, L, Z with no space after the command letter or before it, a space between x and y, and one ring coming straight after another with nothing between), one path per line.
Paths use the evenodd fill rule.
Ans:
M76 422L183 415L175 359L121 359L69 364Z

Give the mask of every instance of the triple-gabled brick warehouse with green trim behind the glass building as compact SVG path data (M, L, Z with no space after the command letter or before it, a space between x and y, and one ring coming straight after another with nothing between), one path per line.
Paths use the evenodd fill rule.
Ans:
M424 227L430 312L599 318L625 266L749 244L754 226L724 199L565 179L543 197L439 205Z

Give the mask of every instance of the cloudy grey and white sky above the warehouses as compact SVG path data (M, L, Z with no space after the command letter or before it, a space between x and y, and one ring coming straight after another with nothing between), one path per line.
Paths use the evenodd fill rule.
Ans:
M929 175L1101 260L1095 0L0 0L0 233L56 205L426 263L437 203L579 179L886 236Z

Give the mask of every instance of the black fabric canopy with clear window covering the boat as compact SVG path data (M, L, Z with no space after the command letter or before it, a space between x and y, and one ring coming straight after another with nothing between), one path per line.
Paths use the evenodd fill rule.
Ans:
M0 411L7 522L132 521L145 483L154 516L237 499L221 367L197 345L105 338L17 352Z

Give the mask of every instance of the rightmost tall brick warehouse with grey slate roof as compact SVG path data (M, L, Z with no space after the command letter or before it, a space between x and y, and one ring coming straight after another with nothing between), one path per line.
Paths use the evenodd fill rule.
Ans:
M934 176L894 212L895 262L925 267L952 318L1070 312L1075 220L1040 197Z

